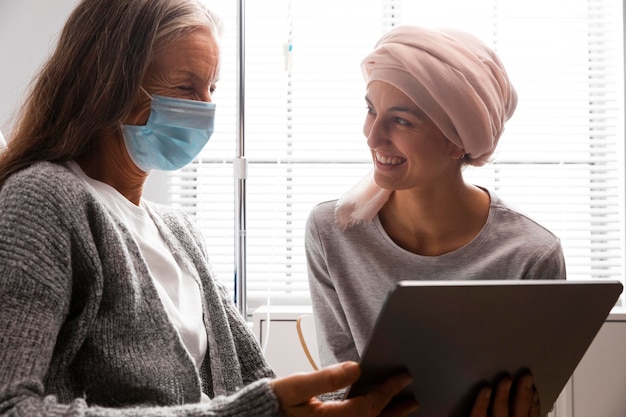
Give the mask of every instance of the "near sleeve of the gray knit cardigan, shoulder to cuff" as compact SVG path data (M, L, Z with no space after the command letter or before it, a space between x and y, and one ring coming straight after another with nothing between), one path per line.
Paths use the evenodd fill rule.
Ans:
M59 388L71 385L63 379L71 373L57 374L52 358L64 361L76 353L66 350L65 329L89 329L89 323L76 323L102 314L81 311L80 300L86 305L86 297L97 297L99 291L78 288L72 278L97 285L97 250L93 241L79 237L95 239L101 233L90 223L97 207L62 170L52 164L27 169L0 190L0 416L278 417L278 401L265 379L206 403L120 408L94 406L88 394L68 396ZM78 333L72 337L76 346Z

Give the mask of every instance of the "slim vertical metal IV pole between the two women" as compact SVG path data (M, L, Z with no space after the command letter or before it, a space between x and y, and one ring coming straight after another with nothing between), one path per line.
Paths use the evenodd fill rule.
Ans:
M246 179L248 161L245 157L245 0L237 4L237 148L233 160L235 179L235 303L247 318L246 299Z

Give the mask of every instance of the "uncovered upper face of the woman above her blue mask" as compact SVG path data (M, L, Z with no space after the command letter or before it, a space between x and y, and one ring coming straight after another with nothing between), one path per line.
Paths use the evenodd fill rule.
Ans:
M208 28L199 28L172 41L154 55L142 87L149 94L212 101L219 78L219 45ZM141 92L126 124L144 125L150 97Z

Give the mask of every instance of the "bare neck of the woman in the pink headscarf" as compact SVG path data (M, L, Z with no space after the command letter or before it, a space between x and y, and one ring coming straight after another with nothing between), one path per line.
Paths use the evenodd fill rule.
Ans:
M487 221L489 204L486 191L461 182L436 190L396 190L378 215L396 244L437 256L474 239Z

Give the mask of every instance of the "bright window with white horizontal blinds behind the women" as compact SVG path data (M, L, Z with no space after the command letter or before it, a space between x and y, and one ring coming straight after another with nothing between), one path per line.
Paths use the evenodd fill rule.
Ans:
M519 105L494 162L466 178L551 229L569 279L624 277L622 4L615 0L275 0L245 5L246 229L235 230L237 3L226 22L216 132L174 173L171 203L203 227L233 288L246 236L251 312L309 303L304 224L370 168L361 58L392 26L457 27L496 49ZM624 305L624 299L618 303Z

